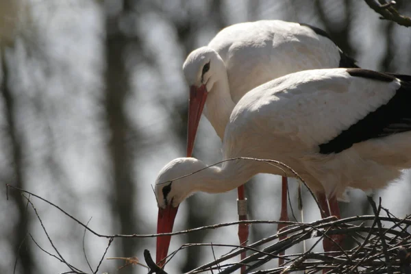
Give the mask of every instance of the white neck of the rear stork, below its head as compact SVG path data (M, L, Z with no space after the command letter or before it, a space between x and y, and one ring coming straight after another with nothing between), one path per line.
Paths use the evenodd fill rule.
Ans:
M221 60L223 63L223 60ZM217 135L223 140L225 126L229 122L229 116L236 106L230 95L227 70L225 64L222 64L219 71L219 79L214 83L206 100L204 115L214 127Z

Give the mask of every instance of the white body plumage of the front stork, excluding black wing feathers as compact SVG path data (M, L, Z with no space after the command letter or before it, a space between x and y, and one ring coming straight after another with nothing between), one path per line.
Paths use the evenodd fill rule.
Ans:
M371 138L352 147L351 141L340 140L331 153L319 153L321 146L351 125L372 116L401 87L399 79L385 82L364 76L351 76L345 69L303 71L252 90L232 112L224 158L279 160L295 169L314 191L329 196L342 195L347 186L362 190L385 186L400 169L410 167L410 133ZM366 132L357 134L360 140ZM254 171L282 174L266 164L250 165L255 165Z

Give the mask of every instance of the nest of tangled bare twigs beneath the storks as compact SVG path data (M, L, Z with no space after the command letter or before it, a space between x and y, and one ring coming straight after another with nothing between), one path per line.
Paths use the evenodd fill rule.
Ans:
M329 217L313 223L273 222L273 221L242 221L237 223L288 223L278 234L254 242L245 247L237 247L214 261L197 267L188 273L234 273L245 266L245 273L279 274L305 271L305 273L410 273L411 256L407 249L411 245L411 215L400 219L381 206L377 207L369 197L374 215L355 216L347 219ZM384 214L385 213L385 214ZM382 216L384 214L384 216ZM359 223L359 224L358 224ZM213 226L212 228L215 228ZM335 252L313 252L314 246L321 244L324 238L344 234L355 242L355 247L344 250L338 246ZM279 237L287 236L284 240ZM304 253L281 256L285 263L273 269L264 269L264 264L278 260L279 254L303 240L317 238L315 245ZM335 242L334 242L335 243ZM173 260L175 253L182 249L199 245L210 245L212 248L229 245L190 244L183 245L169 256ZM269 245L262 248L262 245ZM214 249L213 249L214 250ZM247 258L235 263L228 263L240 253L247 251ZM145 251L145 259L150 267L150 273L166 274L158 268ZM263 267L261 267L263 266Z

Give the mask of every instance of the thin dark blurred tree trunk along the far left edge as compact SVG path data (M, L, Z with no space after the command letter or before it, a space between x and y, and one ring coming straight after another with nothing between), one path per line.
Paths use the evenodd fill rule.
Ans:
M16 124L16 105L14 102L14 97L12 95L11 85L10 85L10 64L8 64L5 58L5 49L0 47L1 52L1 83L0 89L3 94L3 100L5 105L5 120L8 127L8 138L10 139L10 162L12 168L12 177L8 179L8 184L16 186L18 188L25 188L24 178L23 178L23 150L22 150L22 140L18 136L18 126ZM18 210L16 217L16 229L13 231L14 234L10 236L5 236L5 238L14 239L14 248L16 251L16 256L18 260L17 266L21 266L22 272L25 274L32 273L34 269L32 253L30 251L30 245L26 238L27 227L29 227L29 218L26 214L26 203L27 201L21 193L16 191L9 192L10 202L16 204ZM10 269L11 271L11 269ZM18 273L18 271L16 272Z

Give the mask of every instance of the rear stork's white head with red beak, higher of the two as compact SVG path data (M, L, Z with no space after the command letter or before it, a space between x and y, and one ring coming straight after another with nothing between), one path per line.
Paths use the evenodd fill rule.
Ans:
M225 74L224 70L225 64L219 53L209 47L201 47L192 51L183 64L184 76L190 86L187 157L191 157L192 154L197 127L208 92L212 90L219 77Z

